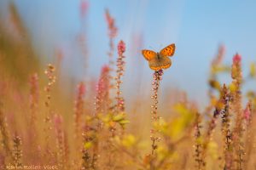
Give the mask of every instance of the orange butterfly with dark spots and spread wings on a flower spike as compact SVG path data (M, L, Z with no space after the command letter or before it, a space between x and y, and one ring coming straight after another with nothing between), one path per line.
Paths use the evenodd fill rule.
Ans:
M159 71L161 69L167 69L172 65L172 61L169 57L175 52L175 43L168 45L166 48L162 48L159 53L155 53L152 50L143 49L142 54L145 59L148 60L150 69Z

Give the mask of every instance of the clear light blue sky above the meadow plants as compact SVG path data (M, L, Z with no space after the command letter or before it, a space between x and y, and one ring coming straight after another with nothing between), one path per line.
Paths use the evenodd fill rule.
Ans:
M2 11L5 11L7 2L3 0L0 3ZM225 63L231 63L236 52L242 55L245 70L250 62L256 60L255 1L88 2L87 18L81 20L79 0L15 1L26 26L32 32L33 44L41 59L48 62L55 48L63 48L67 56L62 70L79 80L86 79L83 56L76 42L79 33L86 32L88 40L89 74L97 77L102 65L108 63L106 8L119 28L116 42L120 39L126 42L126 84L142 81L141 86L146 86L150 84L153 72L138 49L133 50L134 37L143 38L142 47L137 48L156 51L172 42L176 43L172 67L165 71L162 87L181 88L195 99L206 97L209 65L219 44L223 43L227 49ZM126 94L131 91L129 87L125 87ZM148 89L140 90L148 92Z

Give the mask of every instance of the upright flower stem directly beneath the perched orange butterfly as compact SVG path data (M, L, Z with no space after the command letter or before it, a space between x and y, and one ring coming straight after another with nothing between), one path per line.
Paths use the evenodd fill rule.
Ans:
M151 99L153 99L153 105L151 105L151 115L152 115L152 126L153 128L150 130L150 139L152 141L152 150L151 150L151 161L150 161L150 169L154 169L154 157L155 157L155 150L157 149L157 142L160 141L160 137L157 136L157 131L154 129L155 123L159 122L160 116L157 114L157 105L158 105L158 89L160 87L160 80L162 75L164 74L164 71L161 69L159 71L154 71L153 75L153 82L152 82L152 90L153 95L151 96Z

